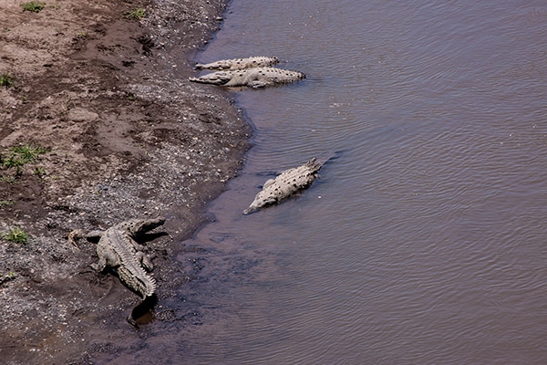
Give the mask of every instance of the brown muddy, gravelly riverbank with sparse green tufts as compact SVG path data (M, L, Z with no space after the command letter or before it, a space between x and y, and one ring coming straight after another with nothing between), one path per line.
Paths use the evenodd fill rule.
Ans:
M229 95L188 81L227 1L23 2L0 0L0 76L15 78L0 86L0 233L29 235L0 239L0 359L93 363L100 333L135 330L124 322L139 297L68 233L166 216L148 243L161 303L191 280L173 257L192 248L177 243L249 148ZM146 16L129 18L135 8ZM45 152L8 168L17 146Z

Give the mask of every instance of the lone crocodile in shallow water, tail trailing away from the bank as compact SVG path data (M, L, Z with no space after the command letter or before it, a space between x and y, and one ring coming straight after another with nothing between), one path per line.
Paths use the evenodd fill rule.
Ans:
M275 179L263 184L263 190L256 194L253 203L243 211L250 214L264 206L279 203L285 198L308 188L317 178L317 172L333 154L322 155L305 162L303 165L281 172Z

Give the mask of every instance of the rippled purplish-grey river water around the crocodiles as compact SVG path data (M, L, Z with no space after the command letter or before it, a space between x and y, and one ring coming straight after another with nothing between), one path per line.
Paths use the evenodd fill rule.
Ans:
M255 146L186 243L222 252L193 288L224 317L181 359L547 363L547 4L233 0L198 60L255 55L307 78L235 94Z

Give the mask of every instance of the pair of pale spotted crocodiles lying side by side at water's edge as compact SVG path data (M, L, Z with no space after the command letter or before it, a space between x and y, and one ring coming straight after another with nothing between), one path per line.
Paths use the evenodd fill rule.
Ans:
M197 64L198 69L218 69L219 71L198 78L190 78L190 80L225 87L259 89L289 84L305 78L305 74L299 71L271 67L277 63L279 63L277 57L222 59L208 64Z

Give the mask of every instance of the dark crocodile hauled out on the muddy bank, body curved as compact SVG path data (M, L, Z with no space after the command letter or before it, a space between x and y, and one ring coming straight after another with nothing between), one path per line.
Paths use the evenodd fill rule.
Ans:
M98 263L91 264L91 267L99 272L107 267L111 268L126 287L137 293L143 300L149 300L156 291L156 281L147 273L153 269L153 266L150 258L142 252L144 246L139 245L136 239L164 223L163 217L131 219L116 224L106 231L75 230L68 235L68 240L75 244L75 239L78 237L85 237L88 240L99 239ZM128 321L136 325L131 315Z

